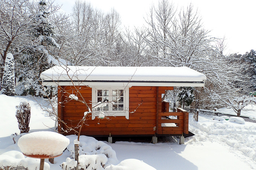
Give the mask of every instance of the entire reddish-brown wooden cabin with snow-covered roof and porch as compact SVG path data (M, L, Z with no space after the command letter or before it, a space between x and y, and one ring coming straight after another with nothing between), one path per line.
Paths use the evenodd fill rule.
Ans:
M58 86L58 117L68 126L88 111L84 99L91 113L81 135L157 137L188 134L188 113L169 112L162 102L166 90L203 87L206 76L187 67L54 66L41 79L44 86ZM58 124L63 133L66 126Z

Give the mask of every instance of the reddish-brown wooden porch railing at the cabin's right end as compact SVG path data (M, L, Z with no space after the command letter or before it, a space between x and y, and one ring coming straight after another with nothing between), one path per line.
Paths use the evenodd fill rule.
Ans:
M158 113L158 134L182 135L189 133L189 113L181 108L178 108L177 111Z

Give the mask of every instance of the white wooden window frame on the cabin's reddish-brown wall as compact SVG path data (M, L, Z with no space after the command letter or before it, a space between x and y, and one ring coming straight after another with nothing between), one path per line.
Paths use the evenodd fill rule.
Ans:
M112 110L111 106L108 111L103 111L104 115L109 116L125 116L126 119L129 119L129 87L123 86L93 86L91 88L91 99L92 107L97 105L98 102L98 90L109 90L109 96L112 96L112 90L123 90L123 110ZM110 99L110 98L109 98ZM111 104L110 104L111 105ZM99 116L100 112L97 107L92 108L91 119L95 119L96 116Z

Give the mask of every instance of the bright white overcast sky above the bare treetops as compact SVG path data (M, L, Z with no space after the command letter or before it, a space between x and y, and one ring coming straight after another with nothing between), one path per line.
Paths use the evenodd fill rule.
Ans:
M158 0L85 0L104 12L116 9L126 27L143 26L144 18ZM75 0L56 0L67 14L72 12ZM204 28L217 38L226 37L226 53L244 54L256 50L256 0L173 0L178 10L190 2L203 21Z

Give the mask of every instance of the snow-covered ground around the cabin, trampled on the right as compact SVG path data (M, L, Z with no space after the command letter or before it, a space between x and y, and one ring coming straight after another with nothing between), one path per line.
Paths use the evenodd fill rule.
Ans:
M44 102L43 99L39 99ZM10 135L19 132L15 117L15 105L28 101L31 106L30 132L53 131L55 121L41 108L32 97L0 95L0 165L11 150L20 151ZM46 126L45 126L46 125ZM48 126L48 127L47 127ZM251 170L256 169L256 123L237 124L229 121L212 120L211 116L199 116L195 122L189 117L189 131L193 137L185 139L179 145L177 138L169 137L165 143L134 143L119 141L107 143L116 152L118 163L125 159L139 159L157 170ZM71 137L72 138L72 137ZM81 138L82 139L82 138ZM70 139L71 140L71 139ZM73 139L72 139L73 140ZM1 154L6 153L5 155ZM59 166L70 156L67 150L55 164L49 163L51 170L60 170ZM31 158L33 159L33 158ZM133 161L132 161L133 162ZM39 164L39 161L37 161Z

